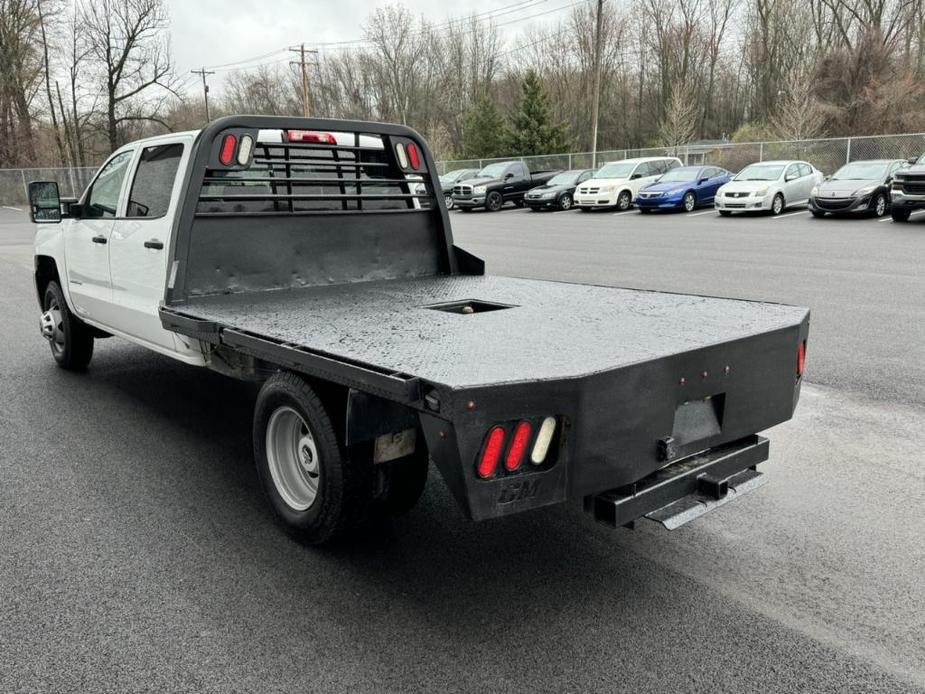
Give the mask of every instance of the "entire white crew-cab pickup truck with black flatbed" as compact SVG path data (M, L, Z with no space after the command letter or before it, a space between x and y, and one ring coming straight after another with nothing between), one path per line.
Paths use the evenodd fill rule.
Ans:
M262 384L257 473L308 543L410 509L429 459L474 520L676 527L763 481L799 397L806 309L485 275L403 126L228 117L29 193L55 360L116 335Z

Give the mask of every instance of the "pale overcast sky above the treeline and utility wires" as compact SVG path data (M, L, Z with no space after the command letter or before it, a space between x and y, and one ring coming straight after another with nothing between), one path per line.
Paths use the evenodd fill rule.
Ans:
M209 68L262 56L302 42L361 39L363 22L369 14L388 4L376 0L166 1L170 10L171 46L180 75L202 66ZM530 25L558 22L568 15L575 0L403 0L401 4L434 23L472 13L494 14L495 23L510 22L499 26L499 31L512 40ZM276 53L262 60L285 64L287 58ZM209 78L216 91L221 89L225 74L226 69L219 69ZM190 79L188 87L195 86L195 79Z

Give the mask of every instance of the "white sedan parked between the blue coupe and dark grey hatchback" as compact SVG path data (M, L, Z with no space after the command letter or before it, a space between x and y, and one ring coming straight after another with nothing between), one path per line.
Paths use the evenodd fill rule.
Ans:
M724 217L733 212L767 211L777 215L805 205L810 191L825 177L805 161L750 164L716 192L714 205Z

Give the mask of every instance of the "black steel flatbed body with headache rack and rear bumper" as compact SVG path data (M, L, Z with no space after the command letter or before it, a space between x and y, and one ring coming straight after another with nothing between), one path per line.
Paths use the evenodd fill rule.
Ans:
M350 207L300 210L293 200L337 205L345 196L277 192L305 180L286 163L263 196L272 206L215 206L236 195L209 189L220 168L214 143L271 127L376 133L396 181L408 171L393 150L414 143L430 205L415 206L419 196L399 183L403 208L365 210L362 188L375 182L364 179L348 193ZM751 480L745 473L767 457L756 432L792 416L806 309L485 276L481 261L452 243L424 143L399 126L249 117L216 121L200 140L164 326L211 345L226 366L235 354L258 373L287 369L348 388L346 446L417 427L474 519L584 497L599 520L626 525L682 497L688 506L697 495L725 499L728 481ZM279 149L275 157L266 149L272 170L295 156ZM335 164L313 153L305 166L344 166L359 178L361 149ZM249 191L248 204L255 197ZM494 429L510 453L519 423L536 438L546 419L556 422L554 455L477 474ZM691 466L695 456L707 463ZM713 480L714 468L725 477ZM665 522L665 512L656 519Z

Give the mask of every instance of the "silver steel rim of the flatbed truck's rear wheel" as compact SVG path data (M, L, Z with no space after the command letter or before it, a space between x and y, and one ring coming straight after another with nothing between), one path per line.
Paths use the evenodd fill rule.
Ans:
M311 429L288 405L270 415L266 434L270 477L283 502L294 511L305 511L318 497L321 461Z

